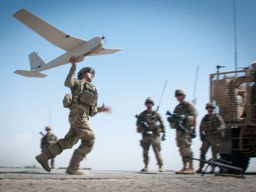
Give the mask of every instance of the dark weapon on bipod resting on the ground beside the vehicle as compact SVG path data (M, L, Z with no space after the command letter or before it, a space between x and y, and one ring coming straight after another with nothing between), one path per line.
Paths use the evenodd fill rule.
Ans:
M218 166L222 171L224 172L228 172L228 170L234 170L237 173L239 173L239 175L242 175L242 173L244 172L244 169L240 168L240 167L235 167L233 165L229 165L232 162L228 162L228 161L224 161L223 159L210 159L210 160L203 160L203 159L196 159L196 158L192 158L189 157L190 159L194 159L197 161L202 161L207 165L207 167L205 168L205 170L202 172L202 176L205 175L205 172L207 171L207 168L211 165L212 167L216 167Z

